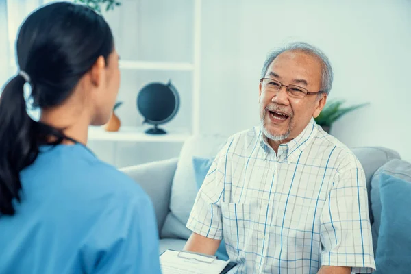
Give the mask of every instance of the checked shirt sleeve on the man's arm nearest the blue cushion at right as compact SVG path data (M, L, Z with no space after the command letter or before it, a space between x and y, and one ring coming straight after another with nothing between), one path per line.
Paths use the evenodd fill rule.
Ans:
M348 266L354 273L375 270L365 175L356 159L334 177L321 214L320 236L322 265Z

